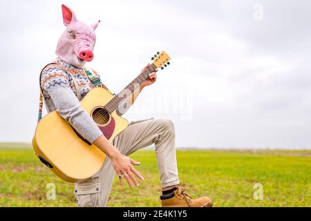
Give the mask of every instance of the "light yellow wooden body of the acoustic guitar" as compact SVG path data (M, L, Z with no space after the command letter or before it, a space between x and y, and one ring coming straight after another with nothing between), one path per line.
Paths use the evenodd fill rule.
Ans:
M94 88L80 102L109 142L129 124L116 111L108 113L104 109L111 99L113 95L106 89ZM57 111L41 119L32 139L32 146L40 160L67 182L88 179L100 169L106 159L99 148L84 140Z

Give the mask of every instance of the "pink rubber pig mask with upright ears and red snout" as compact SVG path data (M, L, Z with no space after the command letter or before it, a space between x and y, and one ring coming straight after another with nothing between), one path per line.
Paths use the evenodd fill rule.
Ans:
M70 8L62 5L63 22L67 26L59 38L56 55L77 68L82 68L86 61L92 61L96 35L95 29L100 21L88 26L77 21L75 13Z

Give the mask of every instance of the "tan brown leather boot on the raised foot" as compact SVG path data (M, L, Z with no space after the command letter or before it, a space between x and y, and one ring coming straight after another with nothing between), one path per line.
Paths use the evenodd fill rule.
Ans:
M213 202L209 200L206 196L202 196L198 199L191 199L185 189L180 190L176 187L171 193L161 195L160 199L162 201L163 207L211 207Z

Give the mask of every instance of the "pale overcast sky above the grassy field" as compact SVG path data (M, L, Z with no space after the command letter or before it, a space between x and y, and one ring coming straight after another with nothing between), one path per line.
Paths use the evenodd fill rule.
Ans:
M170 118L179 147L311 148L311 1L0 1L0 142L30 142L61 4L98 26L88 64L115 93L171 56L124 117Z

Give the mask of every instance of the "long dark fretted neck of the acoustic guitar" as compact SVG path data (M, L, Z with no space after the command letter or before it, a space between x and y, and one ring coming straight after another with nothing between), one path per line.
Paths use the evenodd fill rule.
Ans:
M106 111L109 113L113 113L113 111L117 110L119 105L124 102L124 99L128 98L131 96L134 91L140 87L140 84L144 82L146 79L148 79L149 74L153 73L154 70L157 67L154 64L151 64L148 68L146 68L138 77L133 79L130 84L128 84L123 90L120 91L113 99L111 99L105 106L104 108Z

